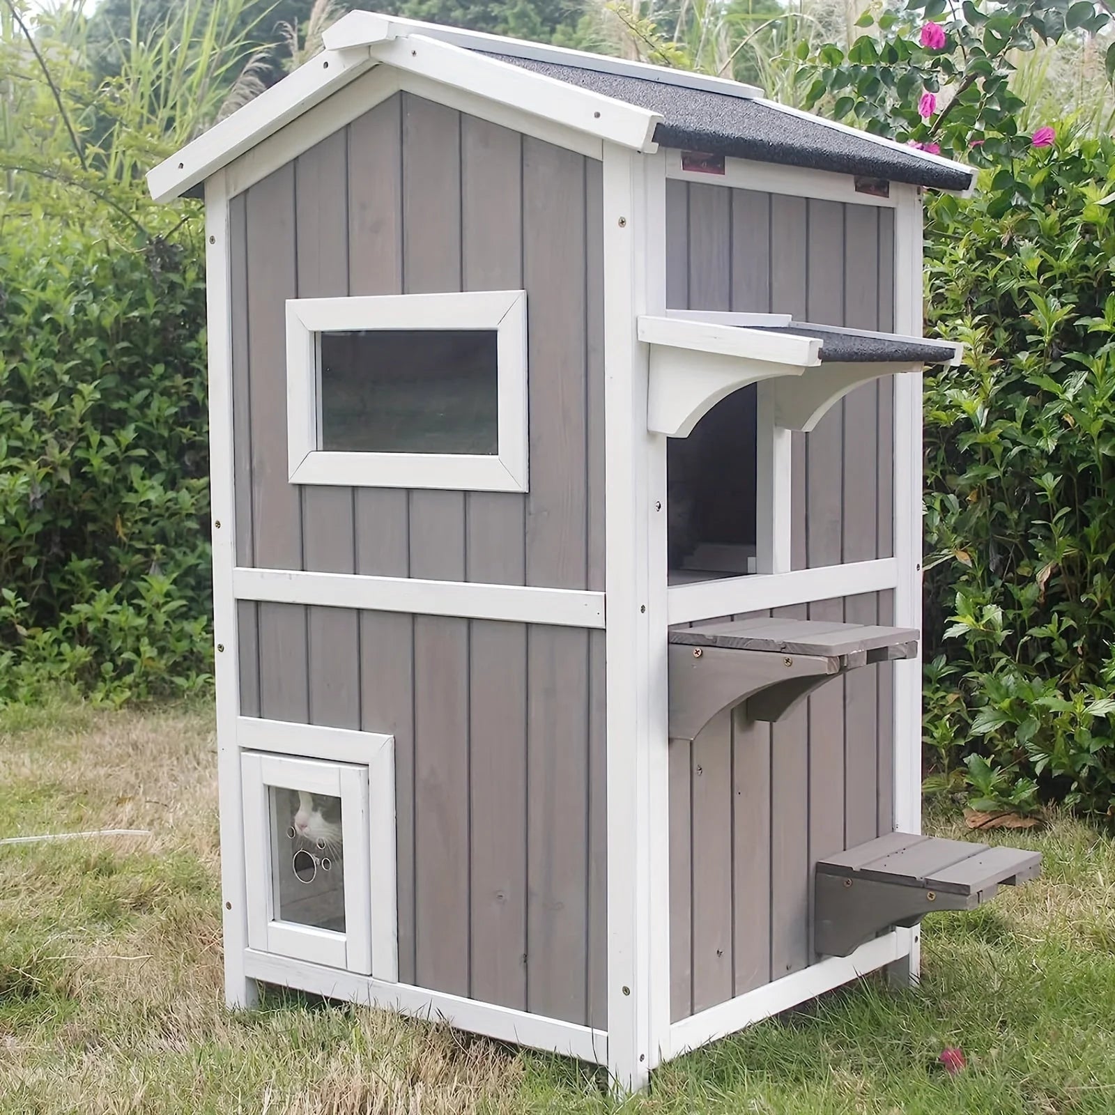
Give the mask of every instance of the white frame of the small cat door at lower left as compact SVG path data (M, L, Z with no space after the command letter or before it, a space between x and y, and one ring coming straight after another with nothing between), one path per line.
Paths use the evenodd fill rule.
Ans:
M236 743L249 947L397 981L394 736L241 716ZM275 918L269 786L341 799L345 933Z

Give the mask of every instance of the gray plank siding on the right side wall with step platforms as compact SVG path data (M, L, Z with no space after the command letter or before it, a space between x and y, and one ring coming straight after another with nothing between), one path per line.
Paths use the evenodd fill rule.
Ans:
M673 308L890 329L893 243L890 210L667 183ZM869 384L794 435L795 569L893 553L892 405L890 380ZM776 614L886 623L892 595ZM691 745L670 743L675 1019L815 959L813 865L892 826L892 671L835 679L778 724L723 715Z

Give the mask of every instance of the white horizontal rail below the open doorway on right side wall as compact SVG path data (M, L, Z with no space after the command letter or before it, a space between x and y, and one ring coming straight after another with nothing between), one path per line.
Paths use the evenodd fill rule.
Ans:
M756 555L757 556L757 555ZM808 604L862 592L882 592L899 584L900 563L895 558L822 565L786 573L726 576L719 581L675 584L668 592L669 622L692 623L739 612L766 611L791 604ZM899 627L915 627L896 619Z

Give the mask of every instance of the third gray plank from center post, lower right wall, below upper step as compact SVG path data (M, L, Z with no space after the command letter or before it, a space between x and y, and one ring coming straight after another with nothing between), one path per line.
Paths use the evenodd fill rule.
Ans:
M731 718L734 993L770 980L770 725Z

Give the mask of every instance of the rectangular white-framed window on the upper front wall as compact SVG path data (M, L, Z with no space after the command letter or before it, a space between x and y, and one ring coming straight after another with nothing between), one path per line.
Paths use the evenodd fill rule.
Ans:
M526 294L287 302L293 484L527 491Z

